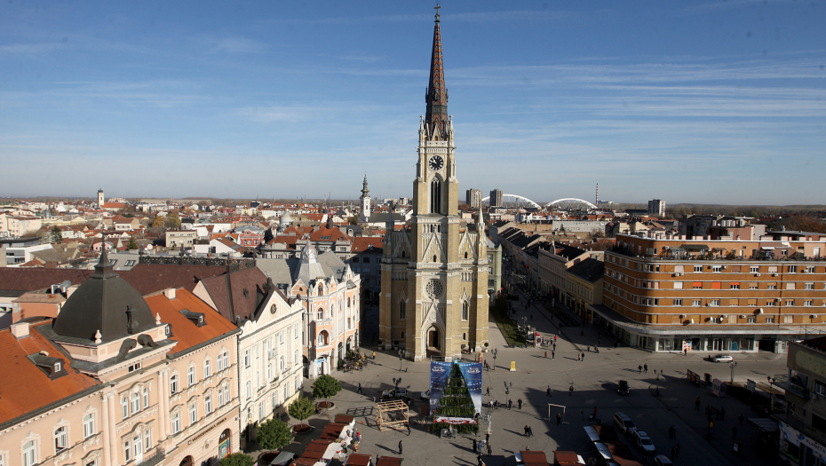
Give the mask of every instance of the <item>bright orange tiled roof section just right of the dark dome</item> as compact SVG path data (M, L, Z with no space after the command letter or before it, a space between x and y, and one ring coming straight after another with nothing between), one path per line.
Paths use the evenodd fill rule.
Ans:
M148 296L146 299L152 314L161 314L161 321L172 326L171 339L178 342L173 351L170 351L173 356L236 329L229 320L224 319L217 311L186 289L176 290L175 299L168 299L163 293ZM189 312L203 313L206 325L198 327L195 322L180 313L185 309Z

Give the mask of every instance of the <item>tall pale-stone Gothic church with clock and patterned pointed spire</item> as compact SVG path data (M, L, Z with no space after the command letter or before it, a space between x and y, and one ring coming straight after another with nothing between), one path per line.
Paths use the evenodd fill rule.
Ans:
M379 338L408 359L480 351L488 342L488 253L484 224L463 226L452 116L438 10L425 115L419 122L409 231L388 219L382 258Z

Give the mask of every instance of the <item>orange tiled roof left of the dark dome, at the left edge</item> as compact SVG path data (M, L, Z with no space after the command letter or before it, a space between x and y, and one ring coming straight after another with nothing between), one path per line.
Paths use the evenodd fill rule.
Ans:
M0 423L25 415L39 407L66 399L99 383L72 367L68 358L40 334L36 328L52 325L52 319L32 323L29 336L18 340L10 329L0 330ZM48 351L52 358L63 359L68 375L49 379L27 358Z

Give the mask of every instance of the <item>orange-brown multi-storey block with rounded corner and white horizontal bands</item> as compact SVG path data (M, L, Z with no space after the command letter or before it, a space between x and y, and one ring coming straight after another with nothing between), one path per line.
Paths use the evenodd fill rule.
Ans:
M826 236L758 241L617 236L586 318L653 351L775 351L826 330Z

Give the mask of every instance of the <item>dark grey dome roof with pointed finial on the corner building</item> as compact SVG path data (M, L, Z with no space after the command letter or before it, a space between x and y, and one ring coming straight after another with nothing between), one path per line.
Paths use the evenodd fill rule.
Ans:
M130 316L131 314L131 316ZM155 327L155 318L143 296L109 265L106 249L95 272L78 287L54 320L59 336L110 342Z

